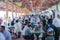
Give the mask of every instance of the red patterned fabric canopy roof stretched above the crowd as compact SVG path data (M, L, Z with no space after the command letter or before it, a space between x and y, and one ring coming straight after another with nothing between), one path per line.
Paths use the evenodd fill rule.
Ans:
M60 0L9 0L21 8L27 8L32 11L34 10L45 10L50 6L57 4Z

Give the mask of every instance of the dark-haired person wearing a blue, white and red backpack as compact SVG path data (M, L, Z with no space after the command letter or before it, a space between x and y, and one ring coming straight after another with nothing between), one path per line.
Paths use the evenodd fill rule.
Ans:
M42 40L45 40L45 38L47 36L50 36L50 34L54 35L54 27L55 26L52 24L52 19L48 19L47 24L43 27L43 30L45 31L45 33L43 33Z

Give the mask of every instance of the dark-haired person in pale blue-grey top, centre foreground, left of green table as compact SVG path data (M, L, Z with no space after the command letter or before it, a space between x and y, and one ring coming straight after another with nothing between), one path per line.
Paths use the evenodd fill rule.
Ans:
M25 40L30 40L31 35L31 29L30 26L28 26L28 22L24 24L24 29L22 30L22 36Z

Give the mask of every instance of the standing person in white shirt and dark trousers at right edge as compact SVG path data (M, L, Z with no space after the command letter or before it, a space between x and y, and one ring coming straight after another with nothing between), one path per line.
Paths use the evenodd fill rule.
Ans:
M60 34L60 15L58 14L56 18L53 19L53 25L55 26L55 40L59 40Z

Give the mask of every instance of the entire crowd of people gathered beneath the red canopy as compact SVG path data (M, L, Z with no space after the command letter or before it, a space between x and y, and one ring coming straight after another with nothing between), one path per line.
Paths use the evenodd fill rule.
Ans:
M1 24L1 23L0 23ZM0 40L12 40L12 35L15 38L23 37L25 40L59 40L60 34L60 15L23 15L19 18L13 18L8 22L8 29L5 30L5 25L0 26Z

